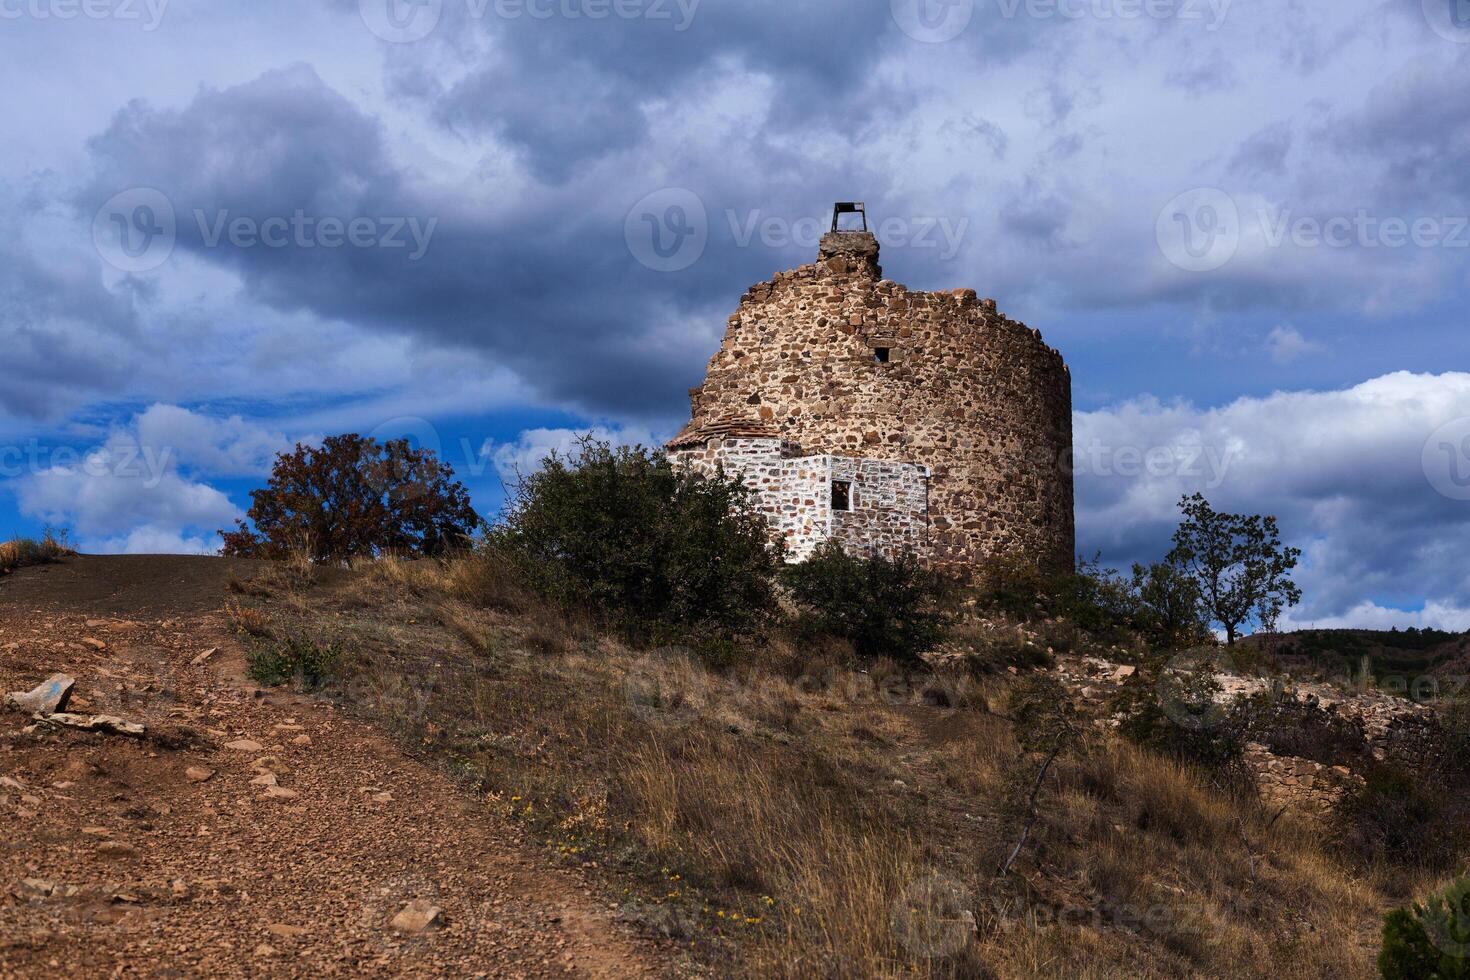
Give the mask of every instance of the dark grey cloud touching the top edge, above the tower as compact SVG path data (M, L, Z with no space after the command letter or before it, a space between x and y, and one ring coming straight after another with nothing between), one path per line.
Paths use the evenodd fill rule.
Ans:
M425 41L432 56L394 51L391 84L456 131L510 141L538 178L560 182L638 145L648 135L644 106L689 98L726 72L770 85L767 115L753 138L829 128L861 134L914 104L916 87L895 85L881 71L885 59L932 51L1005 63L1029 50L1044 26L978 4L967 29L941 51L907 37L886 1L639 6L670 16L504 18L492 13L494 3L476 16L473 4L447 3ZM456 81L437 81L456 71Z

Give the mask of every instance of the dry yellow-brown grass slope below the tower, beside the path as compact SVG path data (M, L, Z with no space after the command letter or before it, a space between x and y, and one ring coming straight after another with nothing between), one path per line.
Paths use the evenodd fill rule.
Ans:
M719 976L1373 976L1386 877L1110 735L997 877L1038 764L988 710L1004 673L933 696L778 644L717 674L476 561L365 563L279 614L353 651L357 711Z

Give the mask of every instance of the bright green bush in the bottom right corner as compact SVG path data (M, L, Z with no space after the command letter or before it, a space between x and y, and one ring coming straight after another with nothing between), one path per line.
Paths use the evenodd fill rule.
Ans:
M1470 980L1470 877L1383 917L1385 980Z

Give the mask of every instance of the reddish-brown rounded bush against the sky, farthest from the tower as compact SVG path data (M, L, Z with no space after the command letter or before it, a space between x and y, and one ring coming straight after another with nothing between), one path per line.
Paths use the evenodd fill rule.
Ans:
M220 552L343 563L388 551L435 555L463 548L479 526L465 485L431 450L356 433L276 455L270 482L250 492L245 522L220 530Z

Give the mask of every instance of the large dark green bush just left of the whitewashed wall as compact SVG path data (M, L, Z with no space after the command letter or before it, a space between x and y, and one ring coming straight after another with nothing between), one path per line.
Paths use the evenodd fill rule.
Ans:
M723 658L776 608L781 552L735 479L675 470L642 447L584 438L512 491L488 547L551 599L632 642L682 642Z

